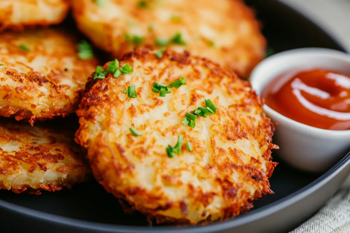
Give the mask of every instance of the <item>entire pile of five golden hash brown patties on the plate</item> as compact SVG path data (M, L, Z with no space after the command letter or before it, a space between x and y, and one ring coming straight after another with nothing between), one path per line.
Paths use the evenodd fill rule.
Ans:
M57 23L65 14L65 1L39 2L31 9L55 14L12 11L2 27L43 24L46 16ZM243 1L71 3L78 28L113 59L96 67L89 44L77 50L62 31L2 32L0 115L26 125L0 127L0 188L58 190L91 167L127 212L176 224L236 216L273 193L274 127L238 77L248 77L266 46ZM55 124L77 108L75 140L90 167L68 131L28 124Z

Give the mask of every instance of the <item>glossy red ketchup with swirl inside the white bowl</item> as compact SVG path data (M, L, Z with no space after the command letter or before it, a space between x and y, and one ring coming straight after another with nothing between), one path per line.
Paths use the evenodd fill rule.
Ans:
M270 82L262 96L267 106L294 121L320 129L350 129L347 74L329 70L287 72Z

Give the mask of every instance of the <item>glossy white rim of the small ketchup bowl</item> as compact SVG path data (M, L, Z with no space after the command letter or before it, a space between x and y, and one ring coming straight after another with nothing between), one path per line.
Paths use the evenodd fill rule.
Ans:
M266 58L253 69L250 75L250 81L254 91L260 94L264 89L264 87L275 78L275 76L271 76L270 78L268 78L268 81L265 83L265 85L259 85L258 88L254 88L254 83L264 78L262 77L262 75L259 74L260 70L264 68L266 65L272 63L274 60L285 59L290 56L294 57L294 56L318 56L318 55L322 55L323 57L328 57L330 59L344 60L348 62L350 66L350 54L343 51L327 49L327 48L316 48L316 47L286 50L283 52L273 54L272 56ZM301 71L302 70L308 70L308 69L305 68L305 69L301 69ZM287 69L285 71L289 71L289 70ZM303 133L307 135L317 135L318 137L322 137L322 138L325 138L325 137L329 138L331 136L334 136L334 137L350 136L350 129L349 130L320 129L320 128L316 128L314 126L306 125L306 124L297 122L293 119L290 119L280 114L278 111L275 111L274 109L269 107L267 104L264 104L263 108L265 112L267 112L270 115L273 115L275 118L278 118L278 122L283 121L283 123L289 124L291 127L294 127L297 130L302 130Z

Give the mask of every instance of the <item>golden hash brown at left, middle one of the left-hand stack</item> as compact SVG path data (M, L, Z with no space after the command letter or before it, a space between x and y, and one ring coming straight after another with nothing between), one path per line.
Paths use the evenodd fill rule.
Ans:
M74 112L97 60L80 60L75 37L59 30L0 36L0 116L37 119Z

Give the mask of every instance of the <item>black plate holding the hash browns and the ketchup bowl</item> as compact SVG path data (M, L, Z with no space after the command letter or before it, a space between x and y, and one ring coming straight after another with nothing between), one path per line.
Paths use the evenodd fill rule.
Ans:
M263 22L275 52L302 47L344 51L306 16L276 0L247 0ZM76 119L75 119L76 120ZM274 157L279 161L278 156ZM271 178L273 195L254 202L247 214L205 227L148 227L141 214L125 215L118 201L95 181L40 196L0 190L2 230L50 232L286 232L314 213L349 174L350 155L325 174L300 172L281 162Z

